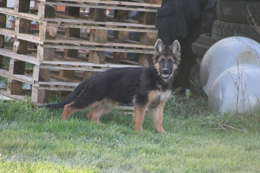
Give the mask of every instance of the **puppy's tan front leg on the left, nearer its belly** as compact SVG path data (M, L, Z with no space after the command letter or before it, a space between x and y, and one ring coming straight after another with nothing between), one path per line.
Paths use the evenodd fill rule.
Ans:
M142 125L144 123L145 111L147 106L137 105L134 107L134 129L135 131L143 131Z

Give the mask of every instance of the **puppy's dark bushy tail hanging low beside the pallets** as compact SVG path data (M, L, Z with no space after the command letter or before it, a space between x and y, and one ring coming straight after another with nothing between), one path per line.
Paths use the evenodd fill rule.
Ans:
M66 104L69 104L71 102L73 102L73 100L80 94L80 92L84 89L84 85L86 84L87 81L83 81L82 83L80 83L75 90L70 93L70 95L63 100L60 103L53 103L53 104L47 104L45 105L45 107L50 108L50 109L61 109L63 108Z

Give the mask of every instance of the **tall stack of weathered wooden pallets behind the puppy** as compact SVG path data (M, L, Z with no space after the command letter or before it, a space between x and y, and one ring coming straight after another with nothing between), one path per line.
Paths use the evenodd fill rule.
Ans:
M38 10L30 9L31 0L15 0L14 8L6 8L7 1L0 1L0 76L8 78L7 91L0 91L4 96L23 99L27 83L31 101L42 105L50 90L62 94L107 69L151 64L161 0L40 0ZM114 9L114 15L106 15L107 9ZM130 11L139 11L138 21L129 19ZM7 15L15 16L14 29L6 28ZM38 30L30 29L32 21ZM130 31L140 33L139 42L129 40ZM5 36L14 39L12 49L5 46ZM37 49L28 49L30 43ZM128 52L139 54L138 63L127 60ZM2 68L3 56L10 57L9 69ZM26 63L34 64L33 69L25 69Z

